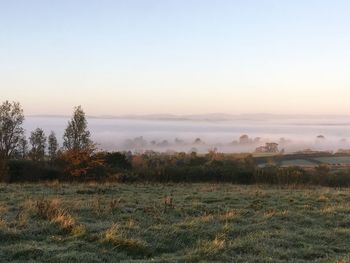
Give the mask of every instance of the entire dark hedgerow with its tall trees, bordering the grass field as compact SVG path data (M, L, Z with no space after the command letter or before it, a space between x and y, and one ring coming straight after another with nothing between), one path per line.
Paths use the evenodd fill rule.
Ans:
M252 155L215 150L199 155L147 151L105 152L91 139L81 106L74 108L59 145L54 131L36 128L25 137L18 102L0 105L0 181L230 182L237 184L350 186L350 171L314 170L277 165L260 167Z

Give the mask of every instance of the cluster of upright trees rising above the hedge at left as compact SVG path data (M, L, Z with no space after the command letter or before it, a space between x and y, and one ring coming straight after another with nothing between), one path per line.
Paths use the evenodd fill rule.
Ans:
M23 109L18 102L5 101L0 105L0 155L3 159L29 158L44 161L47 157L53 160L65 150L86 150L93 147L81 106L75 108L73 117L68 122L62 148L58 145L54 131L47 137L41 128L32 131L27 140L23 122Z

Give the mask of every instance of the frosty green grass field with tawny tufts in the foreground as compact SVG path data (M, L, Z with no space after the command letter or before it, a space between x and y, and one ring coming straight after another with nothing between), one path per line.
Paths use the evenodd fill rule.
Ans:
M3 184L7 261L350 262L350 190Z

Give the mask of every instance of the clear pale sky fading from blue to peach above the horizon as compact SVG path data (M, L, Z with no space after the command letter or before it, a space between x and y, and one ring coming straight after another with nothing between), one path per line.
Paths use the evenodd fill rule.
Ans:
M350 114L348 0L0 0L26 114Z

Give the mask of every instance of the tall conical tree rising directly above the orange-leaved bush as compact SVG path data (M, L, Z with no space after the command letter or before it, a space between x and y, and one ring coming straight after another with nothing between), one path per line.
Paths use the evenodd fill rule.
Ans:
M81 106L74 109L73 117L63 136L63 146L67 150L87 150L92 146L90 132L87 129L85 113Z

